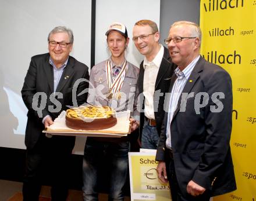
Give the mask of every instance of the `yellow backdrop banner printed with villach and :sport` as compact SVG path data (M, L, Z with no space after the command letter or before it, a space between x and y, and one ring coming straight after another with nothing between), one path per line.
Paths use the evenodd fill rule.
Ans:
M233 82L230 145L237 190L214 201L256 201L256 1L201 0L201 54Z

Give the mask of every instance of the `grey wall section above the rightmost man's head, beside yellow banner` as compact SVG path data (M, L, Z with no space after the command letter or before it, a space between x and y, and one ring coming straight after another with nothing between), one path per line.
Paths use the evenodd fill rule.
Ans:
M170 25L187 20L199 24L200 0L161 0L160 43L167 38Z

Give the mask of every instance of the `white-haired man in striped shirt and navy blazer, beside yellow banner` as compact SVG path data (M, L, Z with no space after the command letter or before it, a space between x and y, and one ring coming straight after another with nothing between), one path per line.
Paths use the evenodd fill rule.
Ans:
M165 43L178 67L157 149L158 176L169 180L173 201L205 201L234 191L231 78L200 56L197 24L174 23Z

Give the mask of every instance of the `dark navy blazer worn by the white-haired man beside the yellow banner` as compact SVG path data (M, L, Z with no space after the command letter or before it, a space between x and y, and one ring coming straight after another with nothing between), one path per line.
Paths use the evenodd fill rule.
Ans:
M215 92L221 92L225 97L216 96ZM190 180L209 189L212 196L234 191L236 181L229 145L233 96L229 74L200 57L182 93L183 98L189 96L183 100L180 96L170 123L173 160L182 193L187 193ZM204 99L200 93L204 94ZM159 161L164 161L167 156L167 118L166 112L156 156Z

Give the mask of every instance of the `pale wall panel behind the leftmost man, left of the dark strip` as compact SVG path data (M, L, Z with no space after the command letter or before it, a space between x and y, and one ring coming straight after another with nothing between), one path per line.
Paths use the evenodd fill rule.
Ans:
M73 30L71 53L90 66L91 0L1 0L0 1L0 147L25 148L27 109L20 90L30 58L48 52L52 28Z

